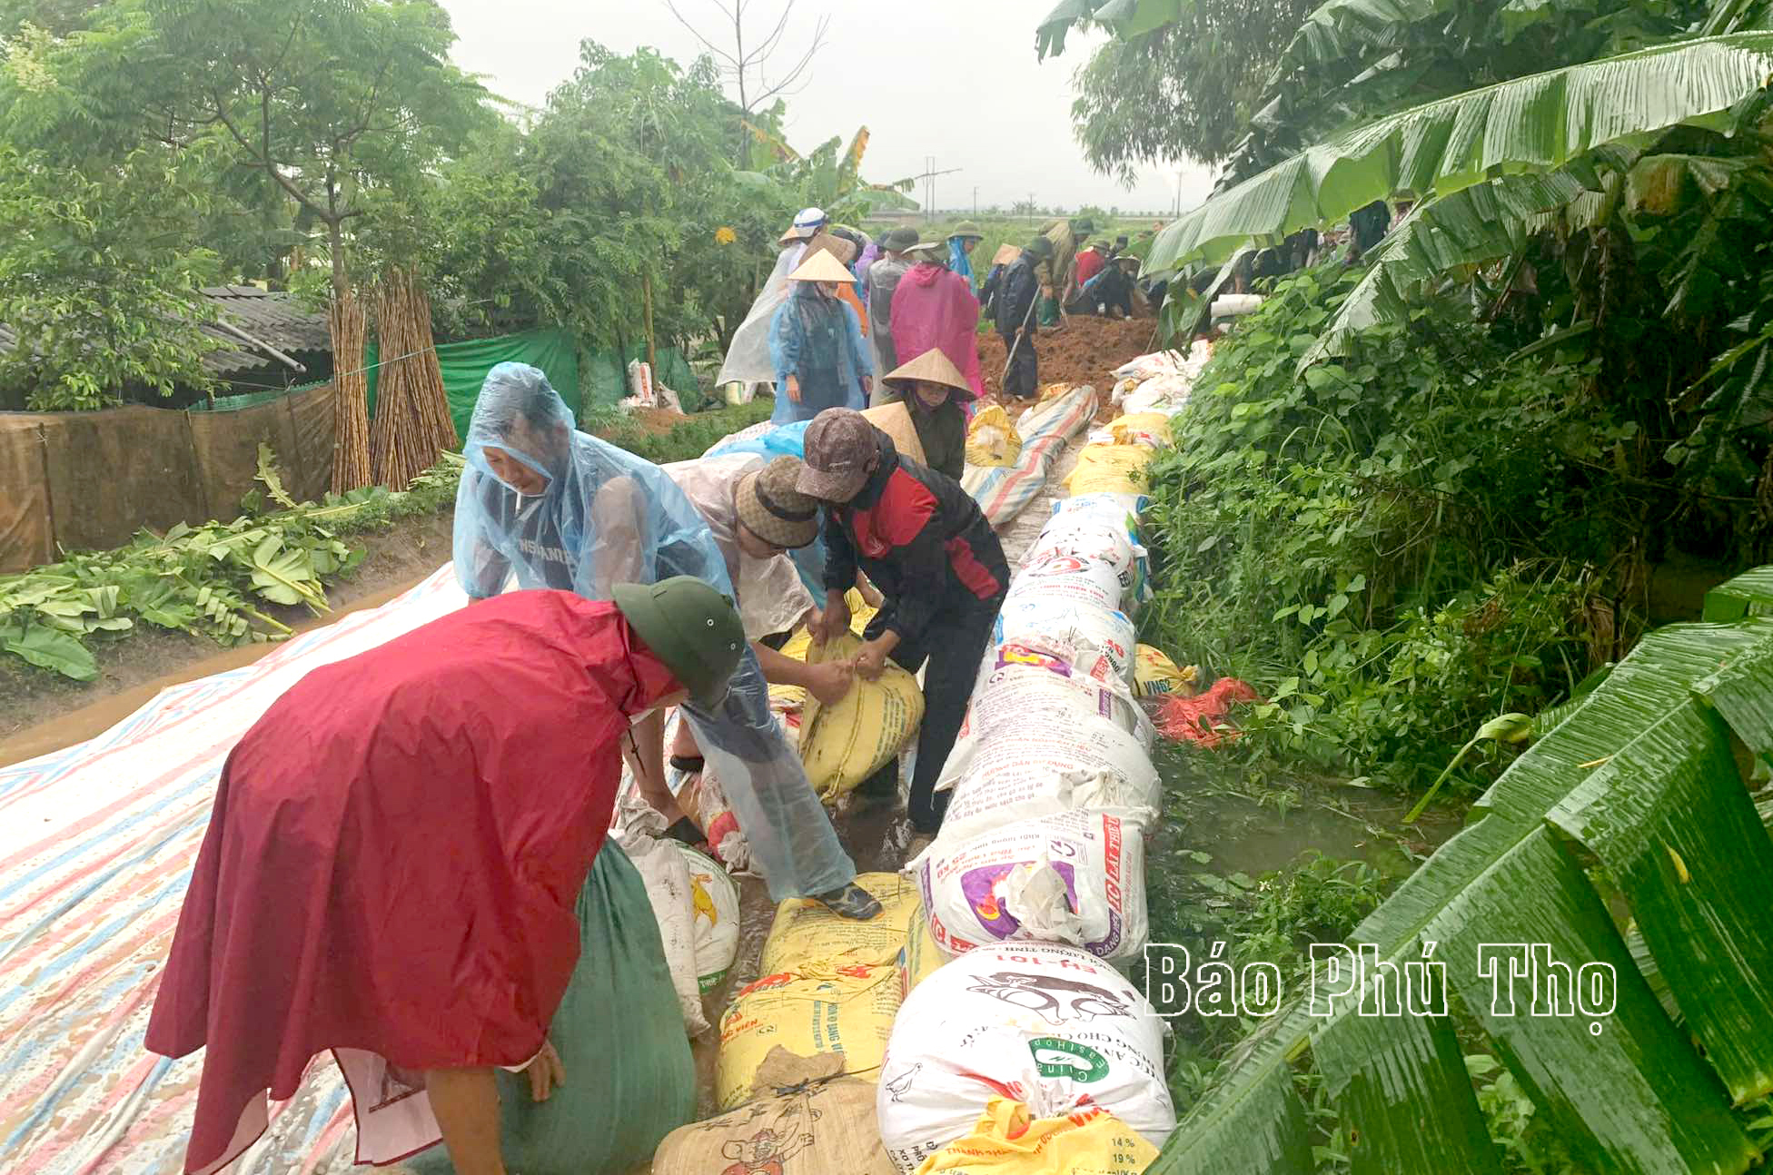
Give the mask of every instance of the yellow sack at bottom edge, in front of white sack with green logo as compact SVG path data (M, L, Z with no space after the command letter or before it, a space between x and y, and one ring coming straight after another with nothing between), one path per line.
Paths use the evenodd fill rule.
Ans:
M1158 1148L1094 1106L1064 1118L993 1097L966 1138L924 1159L917 1175L1140 1175Z

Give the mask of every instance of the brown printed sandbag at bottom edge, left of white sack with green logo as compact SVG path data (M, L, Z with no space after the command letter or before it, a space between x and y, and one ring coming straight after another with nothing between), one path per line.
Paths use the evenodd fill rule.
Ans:
M874 1127L874 1083L814 1081L672 1131L660 1175L894 1175ZM585 1168L592 1175L596 1168Z

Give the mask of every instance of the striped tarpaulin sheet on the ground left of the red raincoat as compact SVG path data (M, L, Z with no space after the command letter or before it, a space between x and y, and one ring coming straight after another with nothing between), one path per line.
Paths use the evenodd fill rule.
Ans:
M174 1173L202 1054L142 1047L229 750L289 686L466 603L445 565L381 608L161 691L105 734L0 767L0 1170ZM344 1081L316 1060L236 1171L348 1166Z

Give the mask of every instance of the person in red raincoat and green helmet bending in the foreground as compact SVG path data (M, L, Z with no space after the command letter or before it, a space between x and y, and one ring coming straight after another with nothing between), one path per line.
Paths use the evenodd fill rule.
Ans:
M206 1049L186 1171L264 1132L332 1051L358 1161L441 1136L504 1175L496 1067L535 1097L580 953L629 723L718 704L745 649L732 603L677 576L612 603L511 592L314 670L222 769L147 1047Z

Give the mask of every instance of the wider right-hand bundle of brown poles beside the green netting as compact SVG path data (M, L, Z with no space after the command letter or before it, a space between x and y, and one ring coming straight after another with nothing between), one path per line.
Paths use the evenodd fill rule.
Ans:
M376 480L406 489L456 447L443 370L431 340L431 300L411 269L388 269L376 294L381 369L369 450Z

